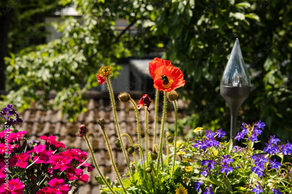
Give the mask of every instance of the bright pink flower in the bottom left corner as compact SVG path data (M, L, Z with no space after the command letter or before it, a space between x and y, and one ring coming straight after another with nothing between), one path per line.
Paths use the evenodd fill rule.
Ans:
M1 194L22 194L23 188L25 185L19 181L19 179L10 179L8 180L8 186L5 183L2 183L0 186Z

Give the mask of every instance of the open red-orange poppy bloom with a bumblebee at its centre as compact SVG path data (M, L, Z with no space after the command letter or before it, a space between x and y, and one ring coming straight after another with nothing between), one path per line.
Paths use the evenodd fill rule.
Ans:
M177 67L163 65L156 68L154 88L170 92L184 85L183 72Z

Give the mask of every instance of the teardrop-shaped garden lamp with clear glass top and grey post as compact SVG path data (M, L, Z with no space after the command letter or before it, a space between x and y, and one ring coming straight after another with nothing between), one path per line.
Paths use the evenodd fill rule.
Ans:
M227 102L231 113L230 138L235 137L234 130L237 127L237 113L250 92L251 80L237 38L220 84L220 94Z

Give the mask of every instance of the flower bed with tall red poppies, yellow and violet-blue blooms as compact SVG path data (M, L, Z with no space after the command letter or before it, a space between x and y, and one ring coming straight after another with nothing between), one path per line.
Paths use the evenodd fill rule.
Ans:
M85 125L80 126L78 135L86 140L94 165L100 174L95 179L99 184L102 184L101 193L292 193L292 145L289 142L281 142L279 138L271 134L270 138L266 140L266 147L263 150L256 150L254 143L257 143L258 137L264 133L265 123L261 121L253 124L242 123L242 130L238 132L236 137L230 138L228 142L226 141L226 133L222 129L212 131L202 127L191 129L197 136L196 138L178 140L178 107L176 102L178 94L175 89L184 86L185 80L183 73L178 68L173 67L168 60L154 58L149 63L149 73L154 79L154 88L157 89L154 100L154 134L157 130L159 90L164 91L159 144L149 144L148 114L150 111L148 108L153 102L147 94L142 96L138 105L128 93L122 92L118 95L121 102L131 103L136 111L138 142L133 142L128 134L121 134L114 92L109 77L111 70L112 67L109 66L100 68L97 80L99 84L107 83L118 136L114 144L122 150L128 165L128 172L121 176L117 170L105 121L102 118L100 118L99 124L117 180L110 180L101 173L86 136L88 129ZM169 134L164 125L166 113L170 111L170 102L172 102L175 111L174 137ZM138 112L138 109L143 106L145 110L144 140L141 139L140 135L141 123ZM131 143L130 147L125 147L122 136L127 137ZM239 140L241 141L239 142ZM163 145L164 142L166 142L166 146ZM236 145L239 143L245 146ZM138 151L135 152L135 150ZM129 161L128 154L133 154L133 162Z

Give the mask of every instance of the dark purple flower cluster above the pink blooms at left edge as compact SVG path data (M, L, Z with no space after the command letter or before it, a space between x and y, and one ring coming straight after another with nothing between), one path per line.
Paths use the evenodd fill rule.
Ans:
M5 108L1 108L0 116L4 116L4 121L6 121L5 124L8 126L23 122L18 113L14 110L12 104L8 104Z

